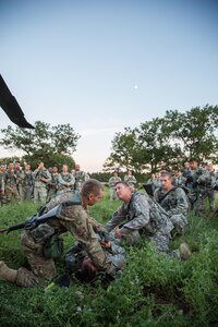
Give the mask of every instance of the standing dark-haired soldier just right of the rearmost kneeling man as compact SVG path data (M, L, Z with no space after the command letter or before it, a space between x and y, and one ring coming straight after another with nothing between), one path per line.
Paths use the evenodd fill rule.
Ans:
M190 173L186 175L186 187L189 189L189 198L191 209L197 214L205 210L205 199L209 185L209 172L203 167L198 167L197 159L190 158Z

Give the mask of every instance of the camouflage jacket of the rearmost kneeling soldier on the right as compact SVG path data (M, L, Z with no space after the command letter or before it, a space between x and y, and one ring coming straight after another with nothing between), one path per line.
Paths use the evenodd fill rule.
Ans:
M187 216L189 203L186 194L181 187L172 187L168 192L159 187L155 191L154 198L170 217L179 214Z

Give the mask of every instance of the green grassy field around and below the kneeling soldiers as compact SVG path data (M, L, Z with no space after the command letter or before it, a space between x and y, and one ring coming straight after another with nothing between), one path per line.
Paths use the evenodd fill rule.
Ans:
M119 204L106 194L89 211L106 222ZM1 207L0 228L36 209L33 203ZM19 235L0 234L0 259L12 268L26 265ZM65 250L72 242L65 234ZM0 326L218 326L218 217L190 215L184 235L170 246L182 242L192 250L187 261L159 255L145 241L129 247L122 274L109 283L72 279L69 288L45 290L0 281ZM64 272L62 259L57 267Z

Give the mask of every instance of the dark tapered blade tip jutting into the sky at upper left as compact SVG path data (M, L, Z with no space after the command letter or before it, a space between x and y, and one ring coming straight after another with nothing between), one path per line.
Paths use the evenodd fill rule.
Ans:
M23 129L34 129L34 126L26 121L24 113L21 107L19 106L19 102L16 101L15 97L11 94L9 87L7 86L1 75L0 106L14 124Z

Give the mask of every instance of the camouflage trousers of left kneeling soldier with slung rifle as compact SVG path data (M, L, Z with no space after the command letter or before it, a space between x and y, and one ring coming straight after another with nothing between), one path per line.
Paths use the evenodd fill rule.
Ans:
M19 268L15 283L21 287L34 287L52 279L56 276L56 266L53 259L44 256L44 244L37 243L29 231L21 235L21 243L31 270Z

